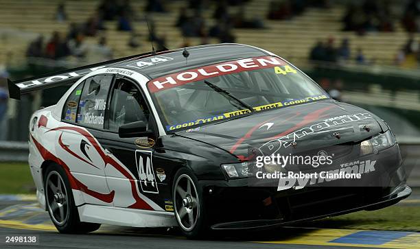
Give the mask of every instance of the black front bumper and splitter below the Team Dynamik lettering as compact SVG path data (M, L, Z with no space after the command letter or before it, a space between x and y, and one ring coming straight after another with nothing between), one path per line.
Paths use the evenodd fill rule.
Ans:
M350 156L344 160L354 158ZM397 144L379 154L356 159L377 161L375 171L360 179L362 184L347 187L306 186L277 191L277 187L250 186L246 179L200 180L211 228L286 226L355 211L382 209L410 195Z

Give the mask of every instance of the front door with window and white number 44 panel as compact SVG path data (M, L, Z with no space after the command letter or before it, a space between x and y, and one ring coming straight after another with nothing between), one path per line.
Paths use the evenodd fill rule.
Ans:
M156 130L150 108L140 88L128 78L117 76L111 91L105 121L108 132L98 140L115 163L105 169L108 186L115 190L114 205L163 211L159 193L165 172L154 165L156 137L120 138L118 134L119 126L135 121Z

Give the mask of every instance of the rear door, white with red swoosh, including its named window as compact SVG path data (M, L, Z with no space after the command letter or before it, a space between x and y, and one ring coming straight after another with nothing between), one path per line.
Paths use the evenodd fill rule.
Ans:
M57 153L77 180L85 203L113 205L113 191L106 184L106 161L94 133L104 128L106 99L113 75L95 75L81 82L69 95L58 128Z

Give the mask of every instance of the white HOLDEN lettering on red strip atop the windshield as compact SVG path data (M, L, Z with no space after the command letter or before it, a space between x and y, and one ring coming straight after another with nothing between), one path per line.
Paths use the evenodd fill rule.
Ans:
M155 93L157 91L162 91L199 80L205 80L215 76L266 69L283 65L285 65L285 62L274 56L260 56L255 58L233 60L165 75L163 77L150 80L150 82L148 82L148 88L151 93Z

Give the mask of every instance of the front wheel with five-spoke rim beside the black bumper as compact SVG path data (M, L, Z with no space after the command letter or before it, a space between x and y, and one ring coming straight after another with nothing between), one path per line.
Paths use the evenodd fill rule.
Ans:
M180 168L172 185L174 213L182 233L189 239L200 239L209 235L207 215L204 209L202 189L190 169Z

